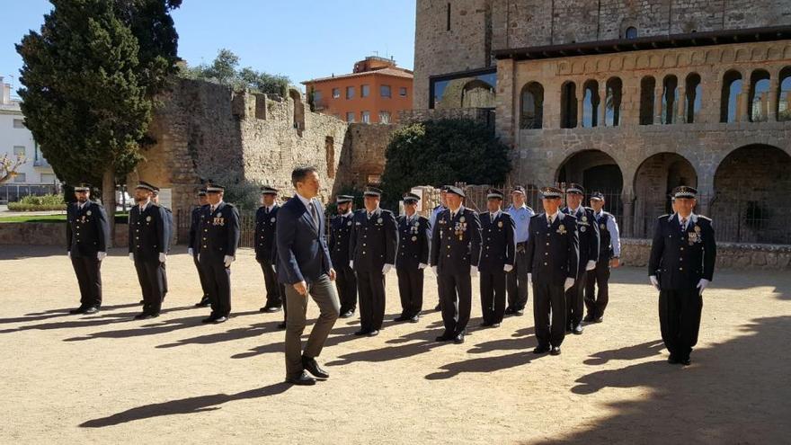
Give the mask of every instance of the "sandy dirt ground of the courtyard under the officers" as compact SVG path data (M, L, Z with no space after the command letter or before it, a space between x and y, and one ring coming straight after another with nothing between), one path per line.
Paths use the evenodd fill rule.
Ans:
M163 316L134 321L140 290L123 251L102 266L102 311L69 316L79 296L65 253L0 246L0 443L719 444L791 434L787 272L717 271L686 369L665 361L642 268L614 272L605 322L566 337L558 357L530 353L531 310L478 329L475 297L463 345L433 343L437 312L393 324L392 272L382 333L358 338L356 317L339 320L319 359L332 377L289 387L282 313L258 312L262 272L251 250L237 258L234 317L201 325L208 310L192 307L200 288L183 249L168 259Z

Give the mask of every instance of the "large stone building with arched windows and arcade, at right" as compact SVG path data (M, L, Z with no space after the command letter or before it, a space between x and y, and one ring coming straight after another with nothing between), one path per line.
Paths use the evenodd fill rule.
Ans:
M791 0L418 0L416 21L413 113L493 114L511 182L604 191L635 237L691 184L721 239L791 244Z

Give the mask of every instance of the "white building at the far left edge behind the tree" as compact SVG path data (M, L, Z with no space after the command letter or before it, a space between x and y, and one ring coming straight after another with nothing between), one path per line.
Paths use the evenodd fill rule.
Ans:
M19 107L19 101L11 97L11 85L4 83L0 76L0 157L7 155L15 158L22 155L27 159L11 181L5 182L0 187L17 185L49 185L58 183L58 178L52 171L44 156L41 156L36 141L29 129L24 126L24 116ZM31 191L20 191L21 194L31 194ZM4 191L0 191L0 200L4 200ZM39 194L32 192L32 194Z

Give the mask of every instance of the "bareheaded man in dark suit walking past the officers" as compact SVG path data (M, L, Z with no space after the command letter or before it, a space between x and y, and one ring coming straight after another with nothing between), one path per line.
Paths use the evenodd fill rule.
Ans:
M286 285L289 307L286 381L293 385L314 385L316 378L330 377L318 365L316 357L338 319L341 304L333 286L335 270L324 236L324 208L316 200L321 187L316 168L295 168L291 183L297 192L280 208L276 231L278 279ZM305 331L308 295L316 301L319 316L303 351L301 337Z

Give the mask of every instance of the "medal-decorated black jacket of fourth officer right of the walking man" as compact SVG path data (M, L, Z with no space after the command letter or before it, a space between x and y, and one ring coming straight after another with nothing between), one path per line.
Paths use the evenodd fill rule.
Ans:
M481 220L471 209L459 209L450 218L450 209L437 215L431 235L431 265L445 275L469 275L470 266L481 257Z

